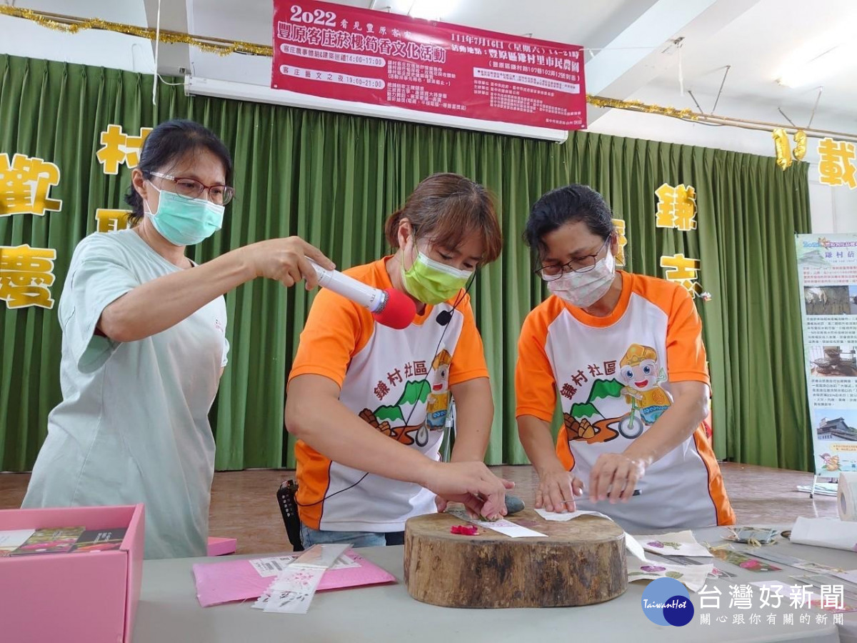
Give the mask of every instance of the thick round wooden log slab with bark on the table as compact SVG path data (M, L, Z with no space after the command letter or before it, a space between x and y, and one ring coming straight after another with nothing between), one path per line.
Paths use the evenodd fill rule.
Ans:
M443 607L569 607L602 603L627 589L625 532L585 515L544 520L532 509L508 518L545 534L510 538L479 527L453 534L463 520L426 514L405 524L405 586L413 598Z

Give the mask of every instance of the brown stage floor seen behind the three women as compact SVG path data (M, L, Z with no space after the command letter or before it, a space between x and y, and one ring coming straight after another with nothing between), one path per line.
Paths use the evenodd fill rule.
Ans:
M495 466L497 475L516 484L514 493L527 505L538 484L531 466ZM729 499L744 525L792 522L797 516L836 516L836 498L815 496L795 489L811 484L812 474L767 469L761 466L722 465ZM277 506L279 484L291 471L243 471L214 474L211 535L238 539L240 553L291 550ZM0 509L17 508L27 490L26 473L0 474Z

